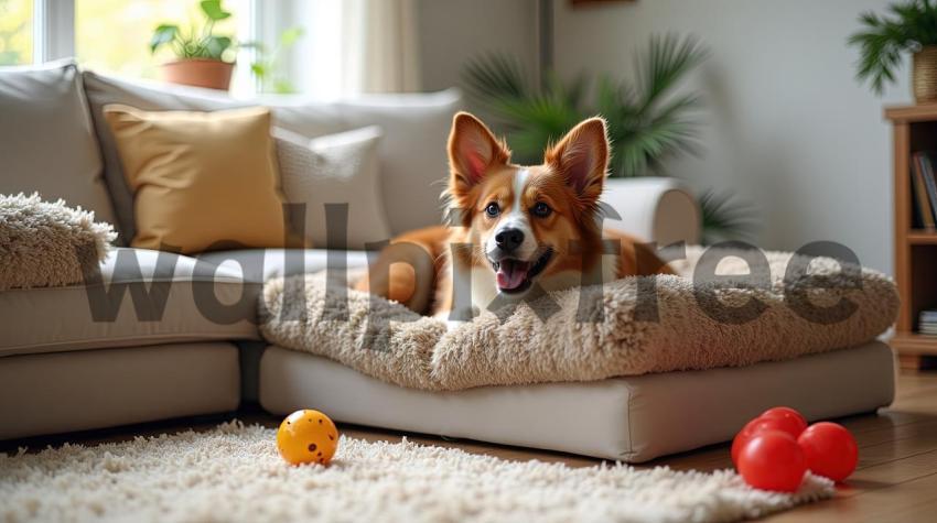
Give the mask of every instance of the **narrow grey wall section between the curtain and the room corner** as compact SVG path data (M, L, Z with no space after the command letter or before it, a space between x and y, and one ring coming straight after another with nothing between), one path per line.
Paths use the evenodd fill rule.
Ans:
M424 90L460 84L467 59L491 52L537 66L537 0L418 0Z

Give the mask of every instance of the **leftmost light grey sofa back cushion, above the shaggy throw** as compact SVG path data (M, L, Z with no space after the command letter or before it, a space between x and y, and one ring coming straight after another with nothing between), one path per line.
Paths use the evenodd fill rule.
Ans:
M0 194L39 192L114 222L80 75L72 62L0 67Z

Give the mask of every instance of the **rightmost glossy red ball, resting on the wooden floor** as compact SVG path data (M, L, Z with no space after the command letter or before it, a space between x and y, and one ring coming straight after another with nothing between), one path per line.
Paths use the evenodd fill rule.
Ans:
M829 422L815 423L797 438L807 468L811 472L842 481L855 470L859 462L859 447L852 434L842 425Z

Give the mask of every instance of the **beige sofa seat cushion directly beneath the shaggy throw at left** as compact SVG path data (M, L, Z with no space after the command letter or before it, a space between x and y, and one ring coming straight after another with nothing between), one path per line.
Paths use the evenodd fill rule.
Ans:
M0 293L0 357L258 339L259 285L193 258L115 249L83 285Z

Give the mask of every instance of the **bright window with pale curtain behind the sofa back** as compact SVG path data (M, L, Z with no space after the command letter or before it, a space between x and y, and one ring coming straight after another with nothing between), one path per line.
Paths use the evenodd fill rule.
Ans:
M388 70L416 70L406 59L414 52L398 52L412 44L413 39L402 36L403 28L412 24L412 13L407 14L412 8L373 3L223 0L231 17L216 24L215 34L258 44L238 51L231 94L334 98L380 90L388 83L395 84L391 89L401 88L396 84L402 76ZM200 4L201 0L0 0L0 65L76 57L87 69L159 78L160 65L173 59L173 53L166 47L151 54L155 28L172 23L187 30L194 24L198 30L205 23ZM391 23L391 15L403 21ZM403 62L397 64L398 58Z

